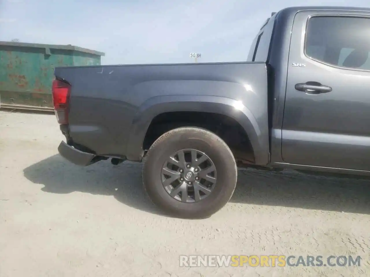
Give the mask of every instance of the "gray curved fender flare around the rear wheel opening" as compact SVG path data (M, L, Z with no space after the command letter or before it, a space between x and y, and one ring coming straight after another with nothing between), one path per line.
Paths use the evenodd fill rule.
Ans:
M255 156L255 163L268 164L269 146L266 145L264 130L258 125L255 116L243 103L221 96L205 95L166 95L146 100L135 114L127 144L127 158L140 161L143 154L143 141L152 120L169 112L208 112L221 114L234 119L247 134Z

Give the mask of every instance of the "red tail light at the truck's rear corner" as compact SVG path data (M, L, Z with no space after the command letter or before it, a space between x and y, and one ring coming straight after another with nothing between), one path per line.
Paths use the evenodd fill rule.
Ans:
M68 107L71 93L71 85L69 83L55 79L51 90L53 96L53 104L55 116L59 124L68 124Z

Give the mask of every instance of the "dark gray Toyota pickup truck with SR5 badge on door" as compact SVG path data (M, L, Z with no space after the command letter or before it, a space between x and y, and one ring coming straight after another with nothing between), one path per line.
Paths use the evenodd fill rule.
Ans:
M152 202L182 218L221 209L237 167L369 175L369 33L367 8L290 7L246 62L56 68L59 153L144 161Z

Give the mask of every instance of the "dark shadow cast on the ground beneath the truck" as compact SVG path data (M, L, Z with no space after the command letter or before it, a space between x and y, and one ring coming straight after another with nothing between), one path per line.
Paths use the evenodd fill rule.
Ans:
M114 166L109 161L78 167L57 154L25 168L24 176L44 185L45 192L113 195L125 205L161 214L145 194L141 168L139 163ZM239 170L231 202L369 214L369 184L366 179Z

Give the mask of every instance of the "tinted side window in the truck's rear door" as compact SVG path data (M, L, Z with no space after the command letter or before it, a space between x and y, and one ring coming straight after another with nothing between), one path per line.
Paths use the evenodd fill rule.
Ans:
M370 70L370 19L316 16L309 19L305 54L333 66Z

